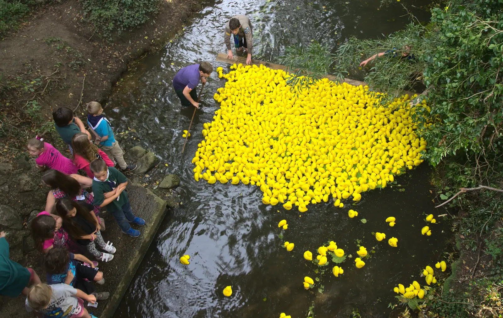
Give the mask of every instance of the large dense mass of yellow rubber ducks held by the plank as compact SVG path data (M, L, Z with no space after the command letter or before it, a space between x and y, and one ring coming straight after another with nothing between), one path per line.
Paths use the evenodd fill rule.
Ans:
M339 207L350 196L359 201L423 162L427 143L415 132L407 95L382 106L368 87L323 78L297 93L283 70L231 69L217 69L227 82L192 160L196 181L254 185L264 204L305 212L330 196Z

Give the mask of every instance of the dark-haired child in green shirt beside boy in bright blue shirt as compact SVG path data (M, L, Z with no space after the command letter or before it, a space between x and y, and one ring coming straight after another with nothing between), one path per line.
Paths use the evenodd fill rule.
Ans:
M59 136L68 145L70 153L73 153L71 148L71 139L76 133L83 132L88 134L89 139L91 139L91 133L86 130L84 123L77 117L73 116L73 111L68 107L59 107L52 112L52 118L54 119L54 128L58 132Z

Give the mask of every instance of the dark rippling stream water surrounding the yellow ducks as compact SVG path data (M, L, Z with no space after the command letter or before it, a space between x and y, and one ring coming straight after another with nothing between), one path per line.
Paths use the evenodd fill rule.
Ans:
M428 2L405 3L415 6L410 8L420 20L429 18L419 8ZM274 61L289 45L317 40L335 46L351 35L376 38L408 22L399 3L378 8L377 1L354 0L215 2L196 15L179 38L124 77L105 111L116 133L135 129L140 140L136 143L169 163L166 173L181 176L184 204L160 225L115 317L278 317L284 311L299 318L308 316L309 307L316 317L348 317L356 310L363 317L384 317L388 303L395 302L392 289L397 283L424 282L420 269L437 262L450 237L441 220L432 226L432 236L421 235L425 214L436 212L426 164L397 177L399 187L365 192L356 207L322 203L309 205L302 215L280 205L263 205L262 193L254 186L195 182L191 160L203 139L202 124L218 109L212 96L224 85L216 72L204 88L186 154L180 154L182 130L189 126L193 108L180 109L172 78L197 61L211 61L214 68L228 66L215 58L225 52L223 26L231 16L244 13L250 18L254 57ZM350 208L360 215L350 219ZM394 227L384 221L391 215L397 218ZM277 226L284 218L286 231ZM398 248L377 242L372 234L376 231L398 237ZM330 240L347 254L356 256L357 244L375 253L362 269L354 266L353 257L342 264L345 272L339 277L332 275L331 262L316 274L317 266L302 254L310 250L316 255ZM285 241L295 243L292 252L282 247ZM180 264L183 254L191 256L189 266ZM304 276L320 281L306 291ZM231 297L222 294L227 285L232 286Z

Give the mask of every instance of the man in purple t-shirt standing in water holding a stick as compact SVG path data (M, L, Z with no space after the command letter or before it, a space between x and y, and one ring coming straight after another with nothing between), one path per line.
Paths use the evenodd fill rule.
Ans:
M201 83L206 83L206 77L210 76L213 71L213 66L209 62L201 62L201 64L194 64L185 66L173 77L173 88L180 98L183 106L190 106L199 108L197 102L196 86Z

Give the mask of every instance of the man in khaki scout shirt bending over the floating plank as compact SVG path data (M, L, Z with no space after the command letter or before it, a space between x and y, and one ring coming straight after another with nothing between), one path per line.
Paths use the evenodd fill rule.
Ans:
M232 50L230 49L230 35L234 36L234 45L236 51L246 48L246 64L251 64L251 39L253 38L250 19L244 15L232 17L225 25L224 42L227 46L227 57L232 59Z

